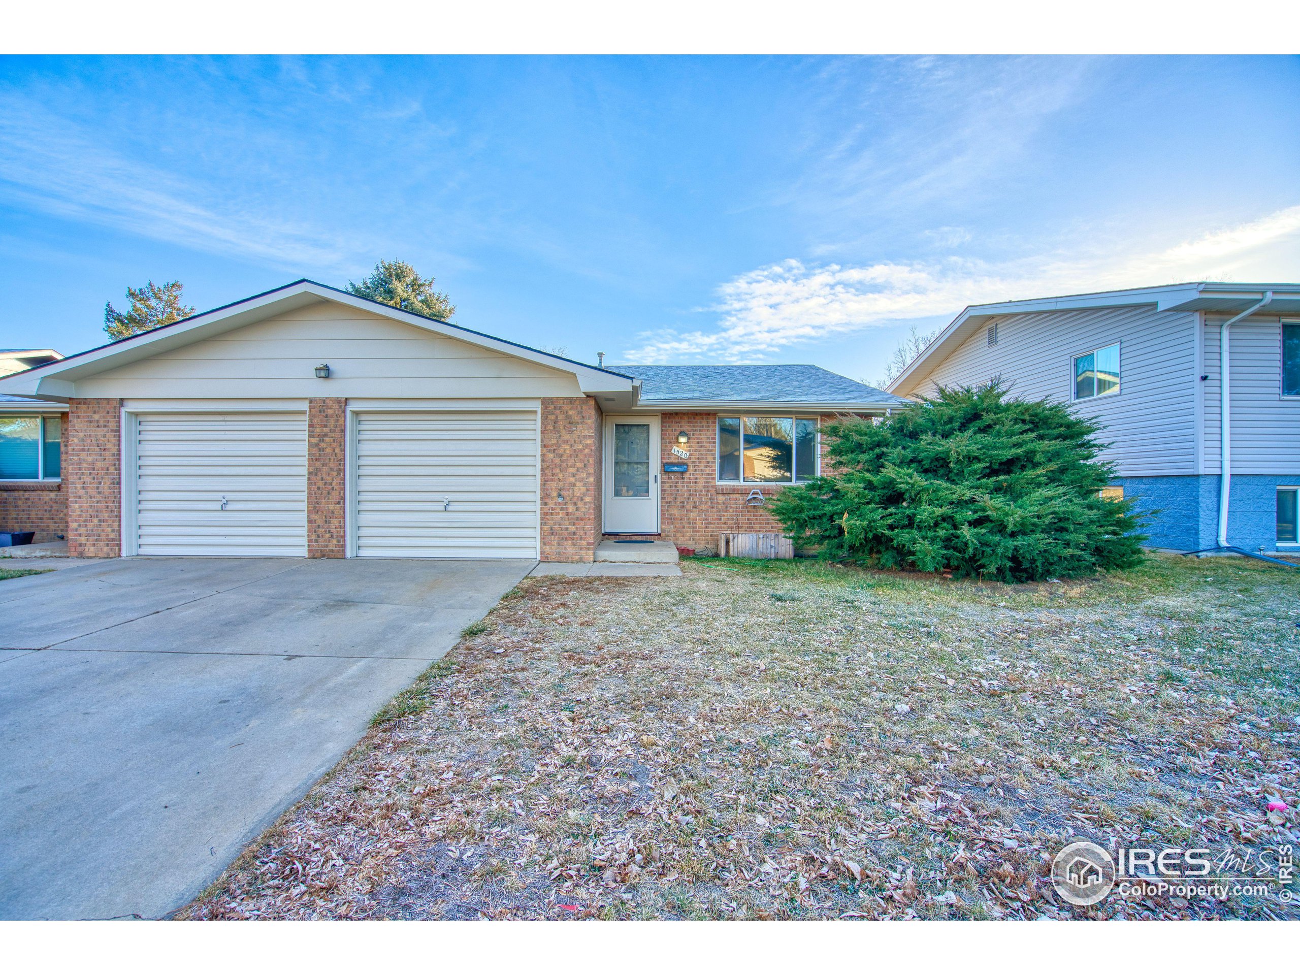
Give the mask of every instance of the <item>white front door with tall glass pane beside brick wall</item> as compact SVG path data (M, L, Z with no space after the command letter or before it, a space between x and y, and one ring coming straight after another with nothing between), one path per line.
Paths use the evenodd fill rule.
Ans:
M659 417L604 417L604 530L659 533Z

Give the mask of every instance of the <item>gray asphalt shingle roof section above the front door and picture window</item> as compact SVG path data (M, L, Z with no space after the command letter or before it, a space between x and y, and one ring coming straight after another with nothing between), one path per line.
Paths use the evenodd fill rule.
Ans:
M641 403L879 403L907 400L819 365L611 365L641 380Z

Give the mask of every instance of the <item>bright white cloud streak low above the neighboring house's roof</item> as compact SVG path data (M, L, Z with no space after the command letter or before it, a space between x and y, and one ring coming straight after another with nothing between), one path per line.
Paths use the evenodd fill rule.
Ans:
M949 259L868 266L786 260L719 290L711 332L645 334L629 363L754 361L801 342L937 315L967 304L1140 287L1174 281L1296 277L1300 207L1206 233L1157 251L1039 256L992 264Z

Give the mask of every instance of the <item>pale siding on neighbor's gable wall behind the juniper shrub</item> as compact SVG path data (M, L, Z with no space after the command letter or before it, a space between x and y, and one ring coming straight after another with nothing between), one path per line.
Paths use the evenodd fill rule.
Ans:
M915 391L1001 376L1014 396L1070 403L1074 356L1118 342L1119 393L1074 403L1104 424L1100 438L1112 446L1102 459L1121 477L1197 473L1196 320L1153 306L998 316L996 346L985 324Z

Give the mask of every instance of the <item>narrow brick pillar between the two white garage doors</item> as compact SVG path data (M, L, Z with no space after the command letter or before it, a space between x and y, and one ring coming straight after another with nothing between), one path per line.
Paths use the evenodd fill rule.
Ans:
M307 404L307 558L347 554L347 400Z

